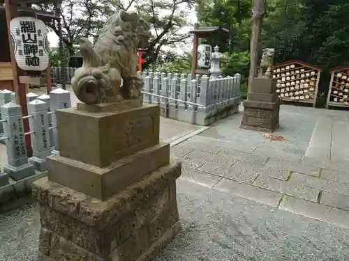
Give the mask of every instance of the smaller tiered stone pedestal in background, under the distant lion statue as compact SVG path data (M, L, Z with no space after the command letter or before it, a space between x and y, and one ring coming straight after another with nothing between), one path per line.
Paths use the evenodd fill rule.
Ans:
M279 127L280 100L276 93L276 79L253 79L251 93L243 105L241 128L274 132Z

